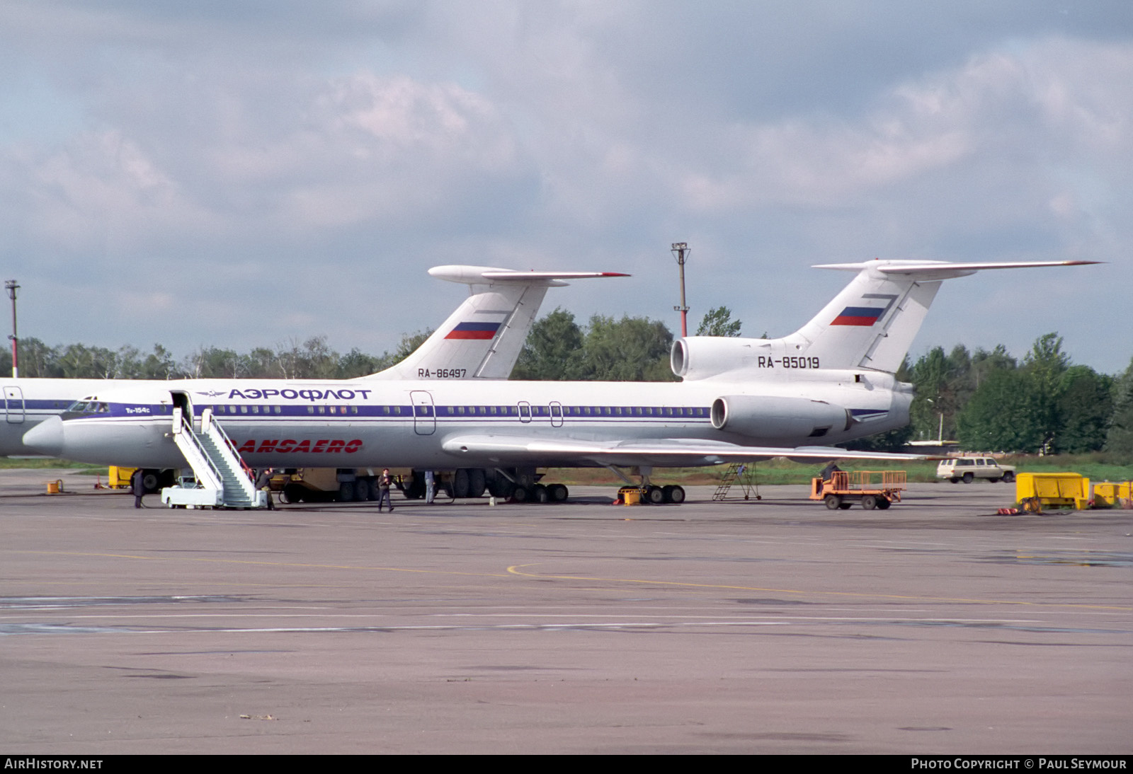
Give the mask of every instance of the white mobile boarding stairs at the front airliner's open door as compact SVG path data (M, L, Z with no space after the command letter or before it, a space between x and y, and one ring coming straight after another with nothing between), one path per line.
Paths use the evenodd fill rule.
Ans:
M201 430L181 407L173 408L173 442L193 468L194 479L181 478L178 487L161 490L170 508L266 508L267 492L256 490L252 471L236 453L228 433L213 419L212 408L201 412Z

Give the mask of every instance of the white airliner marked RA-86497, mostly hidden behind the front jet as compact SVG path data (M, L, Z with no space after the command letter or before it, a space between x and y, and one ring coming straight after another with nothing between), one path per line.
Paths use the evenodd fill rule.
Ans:
M550 287L568 280L629 276L617 272L520 272L491 266L436 266L429 275L468 285L468 298L412 354L358 381L506 379ZM42 456L24 435L76 401L119 388L163 389L172 381L131 379L17 379L0 376L0 456ZM177 382L180 384L180 382ZM114 463L112 463L114 464Z

